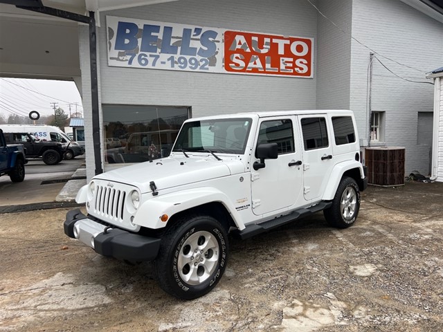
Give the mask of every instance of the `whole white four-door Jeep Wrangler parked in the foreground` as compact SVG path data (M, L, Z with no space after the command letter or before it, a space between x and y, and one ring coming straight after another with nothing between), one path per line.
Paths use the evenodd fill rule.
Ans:
M95 176L64 232L100 255L154 261L164 291L195 299L242 239L323 210L356 220L368 182L352 111L282 111L195 118L170 156Z

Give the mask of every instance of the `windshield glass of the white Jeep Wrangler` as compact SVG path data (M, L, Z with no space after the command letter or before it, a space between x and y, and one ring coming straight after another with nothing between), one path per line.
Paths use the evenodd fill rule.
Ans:
M172 151L243 154L251 118L192 121L183 124Z

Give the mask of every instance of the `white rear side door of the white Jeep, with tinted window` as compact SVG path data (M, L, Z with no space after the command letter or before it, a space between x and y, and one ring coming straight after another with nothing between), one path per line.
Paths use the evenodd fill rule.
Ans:
M321 199L334 167L327 114L299 116L303 148L303 195L305 201Z

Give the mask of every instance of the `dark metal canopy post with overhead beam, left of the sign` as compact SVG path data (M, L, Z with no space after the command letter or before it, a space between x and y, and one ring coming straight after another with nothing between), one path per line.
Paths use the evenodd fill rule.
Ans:
M8 3L8 0L0 0L0 3ZM32 1L31 1L32 2ZM98 114L98 77L97 77L97 34L96 18L94 12L89 12L89 17L79 15L75 12L66 12L51 7L39 6L39 1L35 6L16 6L24 10L40 12L42 14L70 19L84 24L89 24L89 63L91 66L91 109L92 109L92 138L94 149L94 160L96 163L96 175L103 173L102 158L100 155L100 117Z

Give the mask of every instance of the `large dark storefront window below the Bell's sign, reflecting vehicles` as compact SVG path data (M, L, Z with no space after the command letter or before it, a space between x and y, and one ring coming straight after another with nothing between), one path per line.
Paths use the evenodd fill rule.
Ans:
M102 105L107 163L169 156L189 107Z

